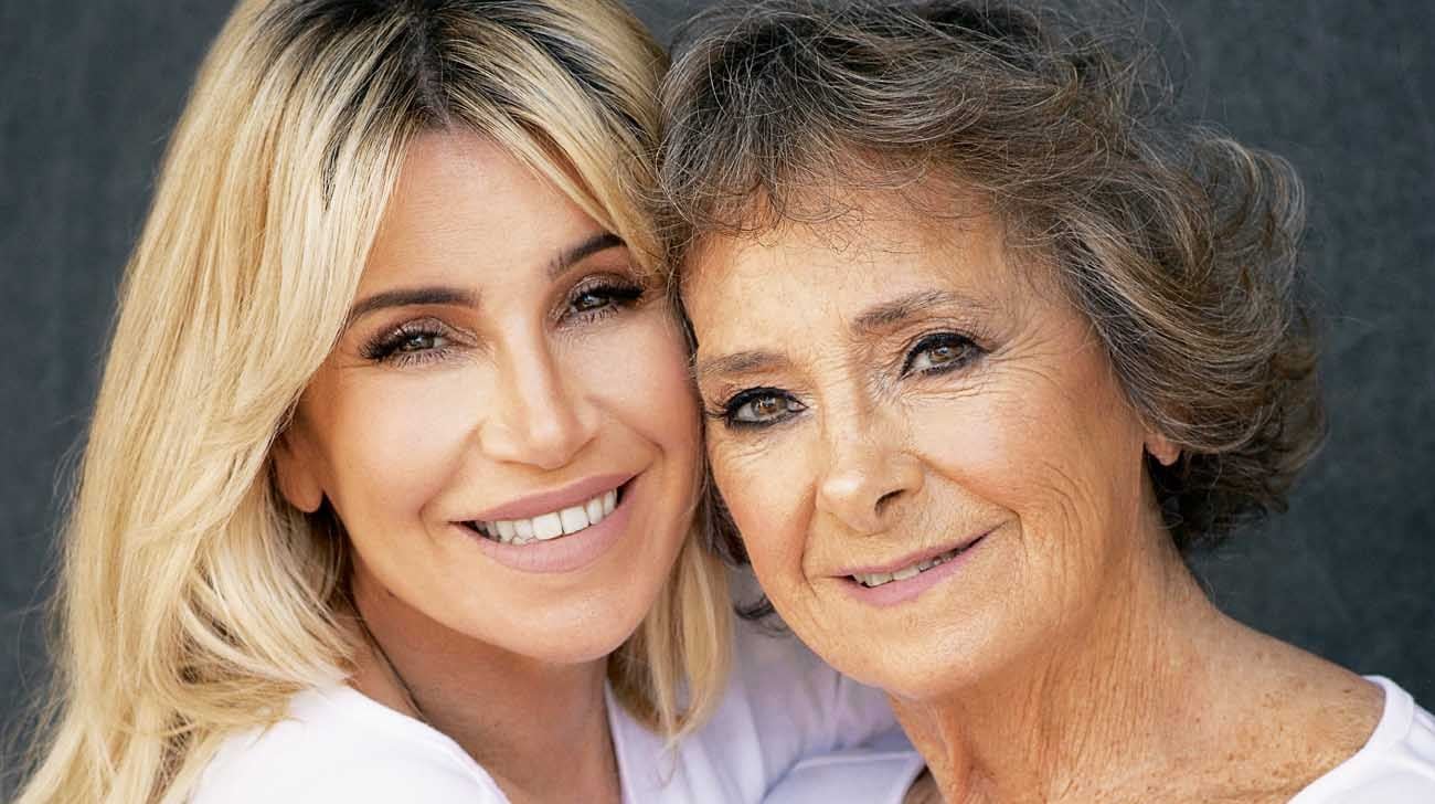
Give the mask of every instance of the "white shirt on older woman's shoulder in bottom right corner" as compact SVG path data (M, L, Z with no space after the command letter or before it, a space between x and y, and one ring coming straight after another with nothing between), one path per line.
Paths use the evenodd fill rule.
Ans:
M1290 804L1435 801L1435 716L1395 682L1368 678L1385 691L1385 711L1370 739Z

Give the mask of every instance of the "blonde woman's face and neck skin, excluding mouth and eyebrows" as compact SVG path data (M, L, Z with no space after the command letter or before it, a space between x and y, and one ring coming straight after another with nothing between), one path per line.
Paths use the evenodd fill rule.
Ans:
M616 795L606 659L672 573L699 477L699 415L666 294L606 290L641 286L621 246L551 276L561 253L601 234L486 141L419 138L357 299L443 286L471 303L353 320L276 449L286 497L309 511L327 500L342 520L359 607L426 719L514 801ZM403 349L376 357L393 333ZM462 525L597 475L636 475L631 515L580 570L509 569ZM409 711L376 656L357 662L360 689Z

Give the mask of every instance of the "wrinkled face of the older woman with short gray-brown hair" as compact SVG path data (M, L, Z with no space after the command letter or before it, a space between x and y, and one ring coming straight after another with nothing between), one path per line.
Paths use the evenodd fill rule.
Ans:
M758 579L834 666L913 699L1079 630L1154 527L1088 322L990 218L943 225L719 240L683 287Z

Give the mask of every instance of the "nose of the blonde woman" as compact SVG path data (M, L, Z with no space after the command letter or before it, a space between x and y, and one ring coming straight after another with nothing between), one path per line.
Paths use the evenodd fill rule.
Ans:
M547 349L509 353L498 385L479 428L481 448L492 459L557 469L593 441L597 422L584 388Z

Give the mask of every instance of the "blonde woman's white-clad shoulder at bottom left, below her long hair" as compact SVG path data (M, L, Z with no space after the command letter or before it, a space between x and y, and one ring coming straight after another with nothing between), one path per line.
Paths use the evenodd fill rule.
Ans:
M284 721L230 737L192 804L268 801L501 804L486 772L442 734L347 688L301 692Z

